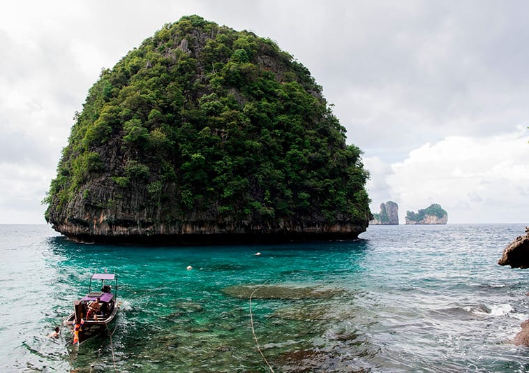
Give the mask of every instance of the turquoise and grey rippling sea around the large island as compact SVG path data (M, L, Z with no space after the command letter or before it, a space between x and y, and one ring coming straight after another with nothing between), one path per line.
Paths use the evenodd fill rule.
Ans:
M528 372L523 224L370 226L357 240L141 247L0 226L0 372ZM191 266L191 269L188 267ZM49 337L94 272L114 325Z

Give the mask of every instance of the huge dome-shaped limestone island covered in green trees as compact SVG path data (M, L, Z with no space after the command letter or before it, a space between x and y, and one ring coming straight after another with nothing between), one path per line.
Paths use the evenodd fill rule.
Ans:
M361 154L292 54L186 16L101 71L45 219L80 242L355 238L371 219Z

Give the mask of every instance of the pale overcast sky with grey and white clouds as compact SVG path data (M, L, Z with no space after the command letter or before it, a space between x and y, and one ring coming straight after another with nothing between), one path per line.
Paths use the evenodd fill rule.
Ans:
M276 41L364 151L379 211L529 224L528 1L9 1L0 12L0 224L43 224L101 68L183 15Z

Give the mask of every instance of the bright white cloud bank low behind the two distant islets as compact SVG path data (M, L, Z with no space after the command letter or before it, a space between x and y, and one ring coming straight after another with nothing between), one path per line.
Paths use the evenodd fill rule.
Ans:
M406 210L439 203L451 223L529 221L526 129L484 138L454 136L412 150L386 182Z

